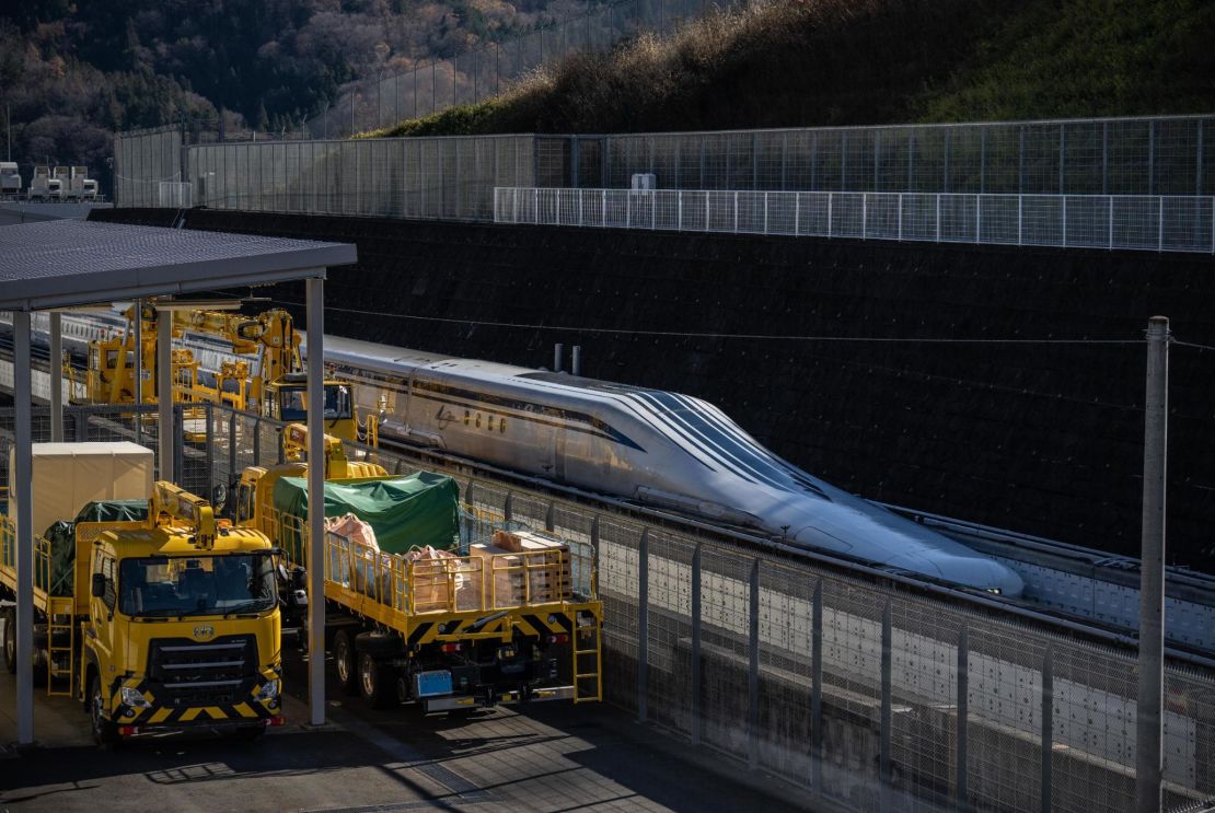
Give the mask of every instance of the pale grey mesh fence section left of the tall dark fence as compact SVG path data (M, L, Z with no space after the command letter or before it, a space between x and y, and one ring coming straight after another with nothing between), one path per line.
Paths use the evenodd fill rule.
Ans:
M210 143L188 149L213 209L491 220L493 188L535 177L532 136Z

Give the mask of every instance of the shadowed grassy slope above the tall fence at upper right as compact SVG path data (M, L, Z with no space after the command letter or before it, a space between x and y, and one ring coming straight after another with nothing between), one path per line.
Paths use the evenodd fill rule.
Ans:
M1211 43L1204 0L776 0L368 135L1210 112Z

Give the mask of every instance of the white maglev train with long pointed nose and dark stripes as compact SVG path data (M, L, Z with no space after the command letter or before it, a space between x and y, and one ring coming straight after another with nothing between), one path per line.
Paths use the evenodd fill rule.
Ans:
M380 435L1008 597L1008 566L776 457L707 401L324 337Z

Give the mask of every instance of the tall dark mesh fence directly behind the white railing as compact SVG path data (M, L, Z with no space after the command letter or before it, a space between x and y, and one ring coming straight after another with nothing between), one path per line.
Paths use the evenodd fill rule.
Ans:
M594 137L603 139L598 186L609 188L646 173L660 188L682 190L1215 194L1211 115Z

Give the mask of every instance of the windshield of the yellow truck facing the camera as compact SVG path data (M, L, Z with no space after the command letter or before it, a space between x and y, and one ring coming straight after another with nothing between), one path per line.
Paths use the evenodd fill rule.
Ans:
M278 600L264 553L123 559L118 595L129 616L264 612Z

